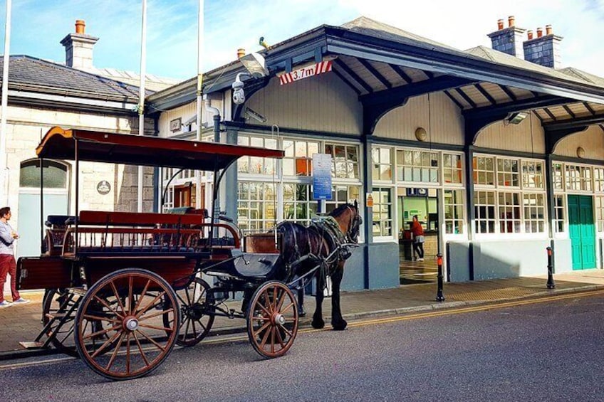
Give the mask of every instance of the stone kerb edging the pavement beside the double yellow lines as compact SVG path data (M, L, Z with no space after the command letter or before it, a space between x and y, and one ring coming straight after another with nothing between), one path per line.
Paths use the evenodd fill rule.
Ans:
M467 300L467 301L454 301L454 302L430 302L427 305L413 306L413 307L399 307L395 309L387 310L375 310L371 312L355 312L343 314L344 319L364 319L364 318L375 318L375 317L386 317L389 315L397 314L408 314L413 312L425 312L425 311L436 311L436 310L447 310L457 307L469 307L477 305L489 305L494 303L514 301L514 300L527 300L527 299L538 299L547 297L552 294L566 294L566 293L582 293L589 292L591 290L603 290L604 285L584 285L578 287L567 287L565 289L551 289L544 290L541 292L531 293L530 295L505 297L501 299L491 300ZM325 317L328 322L329 317ZM312 319L310 317L302 317L298 319L298 328L309 328L311 327ZM247 328L245 326L233 326L233 327L222 327L215 329L206 339L212 339L214 337L220 337L224 335L241 334L245 333ZM11 351L0 351L0 361L11 360L11 359L27 359L29 357L38 356L51 356L51 355L63 355L57 349L15 349ZM68 357L67 355L63 355ZM74 358L75 359L75 358Z

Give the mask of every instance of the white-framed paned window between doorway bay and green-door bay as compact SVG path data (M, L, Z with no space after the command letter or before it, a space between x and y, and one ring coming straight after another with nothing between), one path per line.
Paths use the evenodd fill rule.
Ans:
M546 232L543 161L477 155L473 166L477 233Z

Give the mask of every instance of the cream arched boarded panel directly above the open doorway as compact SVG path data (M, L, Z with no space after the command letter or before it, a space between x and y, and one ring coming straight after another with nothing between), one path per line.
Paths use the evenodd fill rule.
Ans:
M388 112L377 122L374 135L415 141L415 129L424 127L432 142L464 144L464 118L444 93L411 97L407 104Z

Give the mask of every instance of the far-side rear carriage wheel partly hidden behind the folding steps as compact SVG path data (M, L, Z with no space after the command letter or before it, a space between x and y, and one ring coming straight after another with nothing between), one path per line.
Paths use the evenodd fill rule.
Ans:
M44 295L42 305L42 322L44 326L51 322L47 336L51 337L51 343L58 351L69 356L79 357L78 349L75 347L73 329L75 314L80 303L81 295L75 292L61 289L49 289ZM53 319L54 317L54 319ZM63 323L61 324L61 321ZM90 322L84 329L86 333L98 331L101 323ZM105 342L107 337L93 337L86 343L87 348L93 348L95 343Z

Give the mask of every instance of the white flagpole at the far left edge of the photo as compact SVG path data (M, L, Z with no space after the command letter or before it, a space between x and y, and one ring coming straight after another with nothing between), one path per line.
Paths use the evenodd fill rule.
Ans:
M9 102L9 60L11 58L11 0L6 0L4 23L4 65L2 68L2 95L0 117L0 198L1 206L9 205L9 169L6 156L6 113Z

